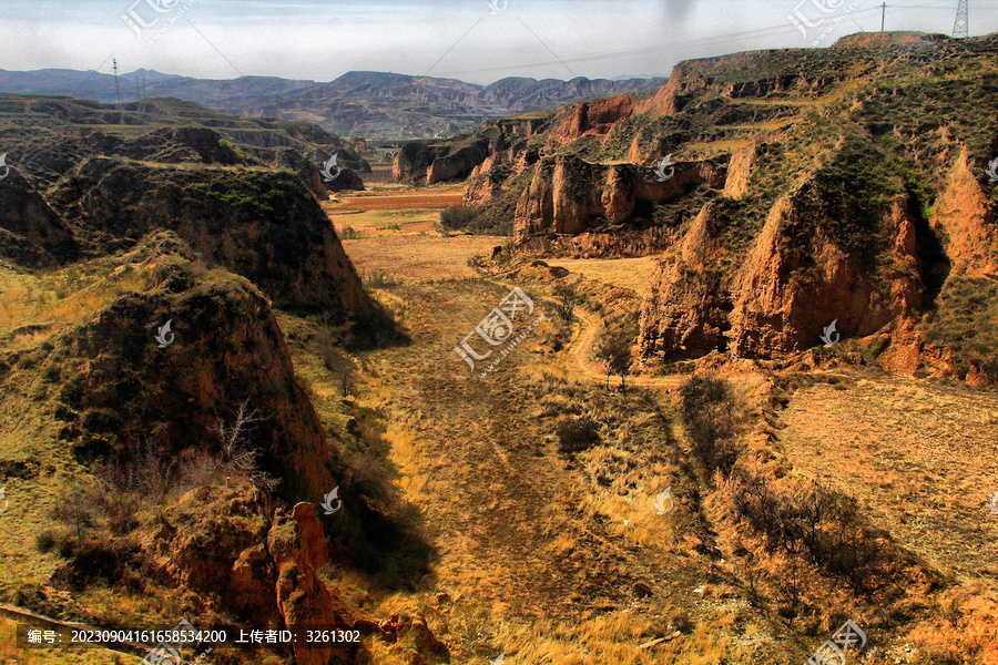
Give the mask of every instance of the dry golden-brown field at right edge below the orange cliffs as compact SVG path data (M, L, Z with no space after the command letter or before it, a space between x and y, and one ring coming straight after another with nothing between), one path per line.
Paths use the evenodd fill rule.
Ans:
M798 390L783 451L856 497L902 544L965 581L998 583L998 395L874 370Z

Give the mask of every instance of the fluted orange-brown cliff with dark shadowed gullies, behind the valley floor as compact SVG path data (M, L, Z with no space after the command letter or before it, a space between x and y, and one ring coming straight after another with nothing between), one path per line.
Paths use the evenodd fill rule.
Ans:
M676 198L701 184L721 187L725 166L712 161L679 163L674 176L659 182L654 171L633 164L590 164L574 156L546 157L517 202L518 244L536 235L578 235L598 221L628 221L641 202Z

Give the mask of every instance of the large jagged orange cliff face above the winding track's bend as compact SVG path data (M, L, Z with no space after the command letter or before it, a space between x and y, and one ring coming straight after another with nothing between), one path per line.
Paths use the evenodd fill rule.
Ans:
M775 358L819 344L833 320L841 335L870 335L920 307L915 223L900 198L879 214L892 238L886 265L872 272L845 249L835 221L798 203L805 185L770 212L754 248L736 270L724 269L724 221L704 208L681 256L661 266L642 305L640 349L646 358L696 358L731 350Z

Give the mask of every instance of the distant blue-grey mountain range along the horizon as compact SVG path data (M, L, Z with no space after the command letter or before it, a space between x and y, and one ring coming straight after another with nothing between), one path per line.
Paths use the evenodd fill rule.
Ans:
M313 122L340 135L375 139L444 137L482 121L662 86L668 79L526 79L490 85L385 72L347 72L335 81L276 76L192 79L136 70L119 76L122 102L173 96L222 113ZM0 70L0 92L71 95L114 103L114 76L95 71Z

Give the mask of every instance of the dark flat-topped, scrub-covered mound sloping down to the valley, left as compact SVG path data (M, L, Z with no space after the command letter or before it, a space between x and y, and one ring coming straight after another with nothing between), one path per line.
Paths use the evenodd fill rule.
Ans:
M291 173L84 162L51 196L92 253L171 229L208 264L264 290L277 307L346 320L370 309L333 226Z

